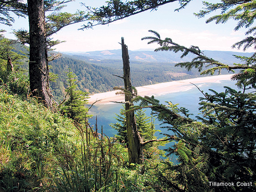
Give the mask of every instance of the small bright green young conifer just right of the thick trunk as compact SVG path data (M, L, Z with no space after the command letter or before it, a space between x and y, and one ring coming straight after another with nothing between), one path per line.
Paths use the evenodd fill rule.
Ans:
M88 102L88 93L77 90L76 75L72 72L67 73L67 99L63 100L61 112L77 122L85 122L88 115L88 108L85 106Z

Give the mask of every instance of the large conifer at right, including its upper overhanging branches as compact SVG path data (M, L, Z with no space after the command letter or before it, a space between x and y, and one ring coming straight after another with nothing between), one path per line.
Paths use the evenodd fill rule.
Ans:
M184 5L189 1L184 1ZM221 14L210 17L207 22L225 23L229 19L237 20L235 30L248 28L244 40L233 47L246 50L255 48L255 1L222 1L220 3L204 2L205 8L196 15L204 17L208 13L221 9ZM173 132L169 137L174 138L175 145L168 149L169 154L175 154L180 164L173 166L165 163L167 169L175 170L178 174L174 180L168 180L177 191L255 191L256 190L256 60L251 57L235 56L241 63L226 65L207 57L197 46L185 47L170 38L161 39L160 34L150 30L152 37L148 43L160 45L155 51L182 52L181 58L192 53L195 58L191 62L179 63L176 66L191 70L197 68L202 74L220 73L222 69L235 72L233 76L238 89L225 87L225 92L204 93L200 98L201 116L190 119L188 110L178 108L168 103L162 105L155 99L141 98L145 106L150 106L158 114L158 119L169 124ZM207 67L205 70L204 67ZM139 106L138 106L139 107ZM135 107L136 108L136 107ZM166 178L160 174L160 179ZM234 186L213 186L209 182L235 183ZM236 182L246 183L243 187ZM179 186L179 185L182 185Z

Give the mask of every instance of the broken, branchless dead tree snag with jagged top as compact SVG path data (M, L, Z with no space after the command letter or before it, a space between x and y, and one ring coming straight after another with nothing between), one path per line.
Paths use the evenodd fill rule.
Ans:
M131 77L130 77L130 62L128 48L124 44L124 39L121 39L122 46L122 59L123 59L123 79L124 79L124 88L130 93L133 93ZM125 110L129 110L133 105L132 95L125 95ZM126 130L128 138L128 157L129 163L138 163L141 164L143 159L142 151L142 140L140 133L137 130L134 111L126 112Z

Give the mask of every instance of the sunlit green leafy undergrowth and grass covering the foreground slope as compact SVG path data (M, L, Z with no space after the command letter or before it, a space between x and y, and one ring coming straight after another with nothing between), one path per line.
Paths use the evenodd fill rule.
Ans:
M168 192L162 166L129 165L116 139L0 89L0 191Z

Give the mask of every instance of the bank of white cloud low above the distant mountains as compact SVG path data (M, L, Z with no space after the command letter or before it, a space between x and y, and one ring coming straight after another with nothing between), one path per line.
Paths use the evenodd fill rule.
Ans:
M95 51L95 50L111 50L120 49L118 42L121 41L121 37L125 38L125 43L130 50L138 49L155 49L157 44L148 45L147 40L141 41L142 37L151 36L148 33L148 28L142 26L138 28L133 26L129 20L121 20L119 25L109 26L97 26L94 30L88 29L85 31L77 31L73 29L63 29L56 35L56 39L66 40L59 46L56 46L57 50L61 51ZM123 23L129 23L129 25ZM122 25L123 24L123 25ZM142 24L141 24L142 25ZM161 38L171 38L174 42L184 46L199 46L201 50L220 50L220 51L240 51L232 49L231 46L239 40L243 39L241 33L232 31L231 33L218 33L217 30L202 30L189 29L181 30L176 27L159 28L149 27L160 33ZM253 49L249 49L248 52L253 52Z

